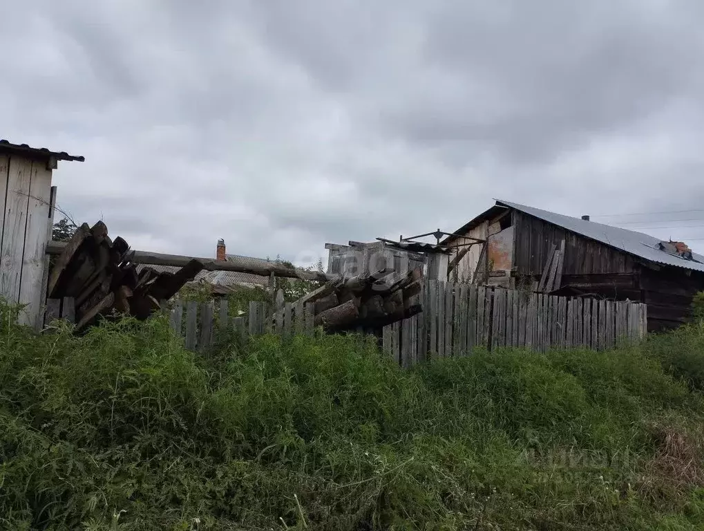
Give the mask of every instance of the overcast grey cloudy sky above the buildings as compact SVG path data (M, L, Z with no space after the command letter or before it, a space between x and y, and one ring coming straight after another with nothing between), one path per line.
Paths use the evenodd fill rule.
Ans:
M493 198L704 225L596 217L704 208L698 0L3 10L0 138L84 155L54 173L58 204L134 249L214 256L222 237L305 264ZM644 232L704 249L704 227Z

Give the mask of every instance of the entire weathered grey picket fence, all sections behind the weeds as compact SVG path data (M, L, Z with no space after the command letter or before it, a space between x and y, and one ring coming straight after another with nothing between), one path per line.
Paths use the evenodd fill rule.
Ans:
M500 287L426 280L418 295L423 311L384 327L381 344L403 367L429 358L467 356L473 349L524 347L534 351L583 347L603 350L646 335L646 305L567 298ZM313 334L313 304L296 306L279 297L272 305L251 301L248 312L231 316L227 299L197 303L175 301L171 327L187 349L208 351L218 337L273 333L282 337ZM73 320L73 299L47 302L45 323ZM368 332L358 330L358 332Z

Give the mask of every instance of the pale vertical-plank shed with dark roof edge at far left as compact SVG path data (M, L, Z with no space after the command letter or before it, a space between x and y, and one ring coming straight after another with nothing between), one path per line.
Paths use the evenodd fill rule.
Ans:
M39 326L46 295L46 242L54 223L58 161L84 161L63 151L0 140L0 296L23 304L20 323Z

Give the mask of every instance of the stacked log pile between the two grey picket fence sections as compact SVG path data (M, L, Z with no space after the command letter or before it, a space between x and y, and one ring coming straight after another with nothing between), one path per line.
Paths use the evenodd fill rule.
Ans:
M393 269L339 277L329 280L315 291L298 299L294 308L313 304L315 326L327 332L381 329L391 323L415 316L422 311L418 294L422 289L422 272L416 268L391 277ZM281 312L273 319L282 318Z

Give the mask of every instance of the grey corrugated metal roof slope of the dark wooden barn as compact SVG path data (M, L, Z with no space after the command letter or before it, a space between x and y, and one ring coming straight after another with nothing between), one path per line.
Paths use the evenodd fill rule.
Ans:
M569 215L558 214L541 210L540 208L533 208L532 206L503 201L501 199L497 199L496 204L515 208L517 211L533 215L548 223L553 223L553 225L559 225L579 235L594 239L597 242L612 246L615 249L620 249L621 251L638 256L644 260L661 263L666 266L704 271L704 256L692 253L692 257L695 260L692 261L665 251L660 251L657 246L662 240L654 236L646 235L643 232L622 229L621 227L612 227L611 225L603 225L602 223L595 223L580 218L572 218Z

